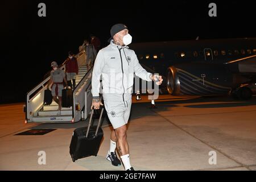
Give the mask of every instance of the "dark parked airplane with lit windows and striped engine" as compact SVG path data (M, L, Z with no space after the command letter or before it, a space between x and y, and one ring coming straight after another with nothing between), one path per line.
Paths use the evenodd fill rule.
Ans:
M256 93L256 38L132 43L139 63L164 78L174 96L231 95L249 100Z

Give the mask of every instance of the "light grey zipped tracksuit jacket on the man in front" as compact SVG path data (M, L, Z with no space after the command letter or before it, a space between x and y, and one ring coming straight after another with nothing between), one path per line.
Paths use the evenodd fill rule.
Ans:
M92 96L99 98L100 76L102 75L102 94L106 101L126 101L131 98L134 73L146 81L152 81L135 52L127 46L117 46L110 42L96 57L92 73Z

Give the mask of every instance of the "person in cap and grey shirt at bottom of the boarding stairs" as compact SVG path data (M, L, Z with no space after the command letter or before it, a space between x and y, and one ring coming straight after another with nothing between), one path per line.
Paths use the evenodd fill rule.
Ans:
M59 105L57 115L60 115L62 104L62 90L64 89L63 80L66 85L68 84L68 82L66 80L64 71L58 68L56 61L52 61L51 67L53 70L51 71L51 78L48 82L47 89L49 89L49 86L52 85L52 97L53 100Z

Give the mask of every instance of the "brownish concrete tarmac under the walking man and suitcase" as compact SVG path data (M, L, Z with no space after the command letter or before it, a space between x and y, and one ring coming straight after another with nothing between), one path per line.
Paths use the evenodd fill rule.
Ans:
M150 109L147 96L141 101L133 97L127 140L135 170L256 170L256 96L240 101L226 96L160 95L155 103L157 108ZM112 130L106 119L98 155L74 163L69 155L72 133L87 126L88 119L24 124L22 105L0 105L0 170L124 170L105 158ZM56 130L15 135L30 129ZM40 163L42 151L46 164Z

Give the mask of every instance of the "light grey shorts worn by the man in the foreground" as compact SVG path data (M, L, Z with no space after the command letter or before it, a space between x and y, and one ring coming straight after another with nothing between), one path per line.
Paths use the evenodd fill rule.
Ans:
M131 99L123 101L104 101L109 121L114 129L126 125L131 111Z

